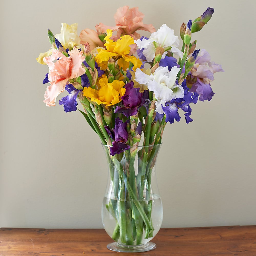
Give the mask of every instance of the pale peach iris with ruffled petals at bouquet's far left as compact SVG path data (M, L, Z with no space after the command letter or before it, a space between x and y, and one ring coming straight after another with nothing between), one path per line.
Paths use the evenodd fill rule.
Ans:
M53 49L52 55L44 58L44 62L49 67L48 80L50 81L45 91L45 100L43 100L47 106L55 106L57 96L65 90L69 79L85 73L82 68L82 62L85 60L85 56L82 56L83 52L74 48L68 54L70 57ZM55 60L57 61L54 62Z

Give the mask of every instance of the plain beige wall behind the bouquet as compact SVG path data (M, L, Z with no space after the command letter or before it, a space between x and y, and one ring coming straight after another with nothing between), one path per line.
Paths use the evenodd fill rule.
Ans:
M114 25L121 1L3 1L1 8L0 227L102 228L107 170L100 140L82 115L42 102L50 48L47 29ZM73 4L72 4L73 3ZM127 1L144 23L179 27L207 7L199 33L225 73L210 102L192 106L194 121L167 124L157 178L162 227L256 224L255 1ZM142 33L143 34L143 33ZM146 32L144 35L149 35Z

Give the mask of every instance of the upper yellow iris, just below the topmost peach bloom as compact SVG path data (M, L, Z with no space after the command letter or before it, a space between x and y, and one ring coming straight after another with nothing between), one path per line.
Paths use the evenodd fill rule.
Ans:
M106 69L108 60L113 58L117 60L117 63L120 68L126 70L129 68L130 62L133 64L133 70L135 71L136 68L140 68L142 62L140 59L129 56L131 47L129 45L134 44L134 40L129 35L121 36L116 42L110 39L112 37L112 30L107 29L107 36L104 38L106 43L104 46L106 49L99 49L99 53L96 56L95 60L98 63L98 66Z

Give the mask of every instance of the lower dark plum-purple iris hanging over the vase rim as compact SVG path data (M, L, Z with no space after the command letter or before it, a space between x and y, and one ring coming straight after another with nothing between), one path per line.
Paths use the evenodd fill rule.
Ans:
M122 122L120 118L115 119L114 137L115 141L112 142L113 147L110 148L110 155L114 156L130 148L129 145L126 145L128 140L126 122Z

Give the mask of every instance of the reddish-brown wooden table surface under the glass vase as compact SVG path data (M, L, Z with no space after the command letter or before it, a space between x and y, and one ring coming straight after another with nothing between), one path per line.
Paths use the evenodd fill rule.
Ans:
M162 228L152 240L156 249L112 252L104 229L0 229L0 256L256 256L256 226Z

